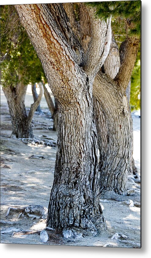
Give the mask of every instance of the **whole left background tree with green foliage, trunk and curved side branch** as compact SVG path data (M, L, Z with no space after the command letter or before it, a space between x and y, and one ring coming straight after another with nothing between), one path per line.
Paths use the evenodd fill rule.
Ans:
M27 115L24 100L29 82L39 82L42 66L20 25L14 6L1 6L1 84L12 120L12 135L17 138L33 137L31 121L43 95L31 105Z

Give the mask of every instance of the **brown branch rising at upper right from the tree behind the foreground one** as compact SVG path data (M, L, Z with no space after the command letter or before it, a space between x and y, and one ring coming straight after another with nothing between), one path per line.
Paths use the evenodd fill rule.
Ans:
M138 53L139 43L140 39L134 36L127 36L125 41L125 53L123 62L120 66L119 72L114 78L123 93L126 92L127 85L131 79L131 74L134 69L136 56Z

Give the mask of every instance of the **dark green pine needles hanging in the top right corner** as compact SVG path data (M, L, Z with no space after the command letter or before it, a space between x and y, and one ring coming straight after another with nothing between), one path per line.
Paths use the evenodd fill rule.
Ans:
M113 19L122 19L128 27L129 35L140 36L141 26L141 1L110 1L89 2L95 8L98 18L107 19L112 15Z

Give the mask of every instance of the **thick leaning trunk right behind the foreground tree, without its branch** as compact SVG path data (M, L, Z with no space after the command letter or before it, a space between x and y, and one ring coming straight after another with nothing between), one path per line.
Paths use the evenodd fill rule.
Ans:
M101 94L99 94L101 92ZM129 104L119 85L101 72L94 80L93 95L105 112L107 125L106 158L101 168L100 191L127 194L127 176L131 157Z

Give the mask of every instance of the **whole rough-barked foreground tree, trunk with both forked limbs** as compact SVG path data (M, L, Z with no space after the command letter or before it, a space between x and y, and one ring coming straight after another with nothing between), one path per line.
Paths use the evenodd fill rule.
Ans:
M58 101L57 156L47 226L96 234L105 226L105 220L98 196L98 147L92 119L92 85L108 52L108 46L103 46L110 25L103 21L96 23L91 17L94 44L90 44L86 63L86 59L82 62L82 47L73 35L62 4L15 7ZM97 43L100 38L101 46ZM106 45L109 44L108 40ZM83 63L83 68L79 63ZM93 67L88 67L87 64L91 63Z

